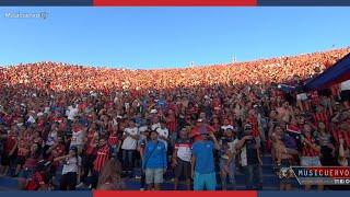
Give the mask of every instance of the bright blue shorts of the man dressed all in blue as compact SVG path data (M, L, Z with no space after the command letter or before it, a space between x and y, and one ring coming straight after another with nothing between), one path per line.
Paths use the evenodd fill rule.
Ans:
M195 172L194 178L194 190L215 190L217 188L217 176L215 173L200 174Z

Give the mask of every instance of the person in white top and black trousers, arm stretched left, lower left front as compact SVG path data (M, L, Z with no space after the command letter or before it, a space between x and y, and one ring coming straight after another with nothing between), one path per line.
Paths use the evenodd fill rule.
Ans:
M78 148L71 147L69 153L56 158L54 162L63 162L60 190L75 190L77 183L80 182L81 158L78 155Z

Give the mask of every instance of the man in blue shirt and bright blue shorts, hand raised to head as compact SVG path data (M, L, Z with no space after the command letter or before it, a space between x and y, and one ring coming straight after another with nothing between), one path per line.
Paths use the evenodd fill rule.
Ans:
M219 142L212 132L202 132L202 140L192 146L191 175L194 177L194 190L215 190L217 177L213 150L220 149ZM209 140L211 138L213 141Z

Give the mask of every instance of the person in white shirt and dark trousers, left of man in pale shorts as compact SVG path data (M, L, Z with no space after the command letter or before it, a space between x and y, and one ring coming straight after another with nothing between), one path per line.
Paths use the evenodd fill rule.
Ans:
M136 126L135 120L129 120L129 127L127 127L122 134L124 141L121 144L124 170L127 171L129 176L132 176L138 139L139 129Z

